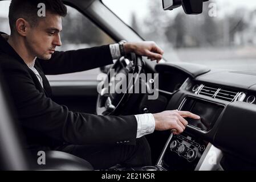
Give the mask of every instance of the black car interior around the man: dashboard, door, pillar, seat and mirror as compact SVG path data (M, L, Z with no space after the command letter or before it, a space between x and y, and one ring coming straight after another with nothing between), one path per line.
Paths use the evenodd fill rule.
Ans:
M2 1L2 0L1 0ZM0 1L0 2L1 2ZM107 34L113 42L140 42L136 31L127 26L100 0L65 0ZM167 2L171 2L168 4ZM174 3L175 2L175 3ZM164 10L182 6L186 14L202 12L203 1L162 1ZM193 6L193 2L198 6ZM163 10L163 11L164 11ZM2 31L0 29L0 31ZM99 60L101 61L101 60ZM152 86L157 82L159 96L149 100L150 93L105 94L97 92L96 80L50 79L52 100L70 110L98 115L159 113L164 110L186 110L201 116L188 119L180 135L155 131L146 136L151 146L153 166L122 168L115 171L230 171L256 169L256 73L215 69L206 65L169 62L157 64L147 57L131 53L113 65L101 68L110 76L117 73L153 73L153 81L138 76L128 82ZM1 69L1 68L0 68ZM1 78L1 76L0 76ZM111 82L111 78L105 79ZM94 168L86 160L60 151L46 152L46 165L36 164L38 156L23 150L22 130L11 109L11 98L3 80L0 82L0 168L3 170L83 170ZM104 88L102 88L104 90ZM84 103L87 103L86 105Z

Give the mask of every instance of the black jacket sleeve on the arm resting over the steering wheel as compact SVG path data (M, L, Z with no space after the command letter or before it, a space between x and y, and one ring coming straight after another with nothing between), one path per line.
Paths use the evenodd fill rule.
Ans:
M113 64L109 46L54 52L50 60L38 59L45 75L86 71Z

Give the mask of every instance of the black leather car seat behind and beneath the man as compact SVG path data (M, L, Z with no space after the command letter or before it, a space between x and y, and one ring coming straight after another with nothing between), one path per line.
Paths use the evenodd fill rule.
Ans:
M4 32L0 32L5 34ZM27 156L22 146L21 130L13 119L10 97L6 92L0 68L0 169L2 170L94 170L90 163L77 156L60 151L46 151L46 164ZM7 102L9 101L9 102ZM12 108L12 107L11 107ZM31 164L32 163L32 164Z

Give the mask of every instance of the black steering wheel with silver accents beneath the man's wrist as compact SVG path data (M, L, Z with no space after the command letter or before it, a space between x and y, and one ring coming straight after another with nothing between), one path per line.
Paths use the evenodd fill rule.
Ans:
M143 59L135 53L120 57L109 69L97 96L97 115L113 115L120 111L131 96L143 70ZM132 79L128 79L128 77ZM125 88L124 88L125 86Z

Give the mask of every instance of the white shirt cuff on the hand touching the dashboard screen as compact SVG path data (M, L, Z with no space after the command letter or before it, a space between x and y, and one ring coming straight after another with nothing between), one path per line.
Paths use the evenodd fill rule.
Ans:
M153 114L138 114L135 115L137 119L137 136L136 138L143 137L144 135L151 134L155 130L155 118Z

